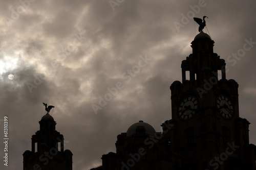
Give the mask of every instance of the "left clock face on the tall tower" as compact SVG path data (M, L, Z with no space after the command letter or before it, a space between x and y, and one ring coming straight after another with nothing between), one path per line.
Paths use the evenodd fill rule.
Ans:
M187 96L184 98L178 107L178 117L182 120L189 120L195 114L198 109L198 100L195 96Z

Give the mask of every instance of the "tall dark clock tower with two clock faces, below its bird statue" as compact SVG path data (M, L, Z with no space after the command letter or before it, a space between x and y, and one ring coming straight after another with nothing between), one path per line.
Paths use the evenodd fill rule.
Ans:
M166 121L174 126L164 134L170 169L255 170L250 123L239 116L238 83L226 79L225 60L214 53L208 34L200 32L191 47L181 63L182 82L170 86L172 119Z

